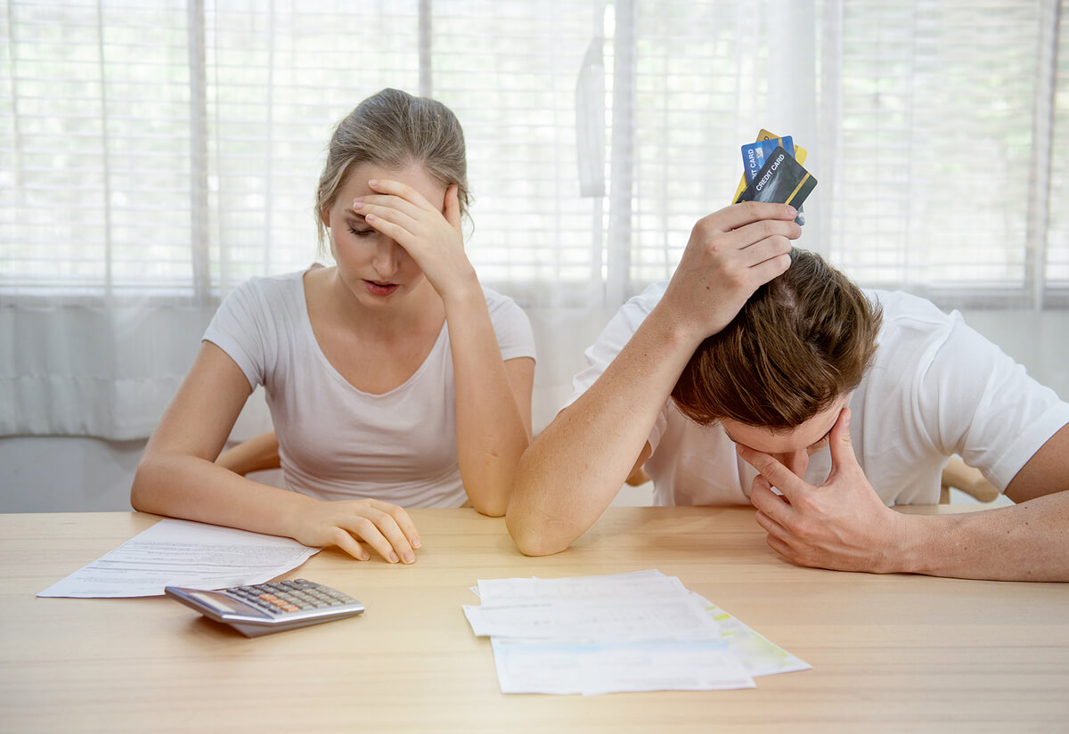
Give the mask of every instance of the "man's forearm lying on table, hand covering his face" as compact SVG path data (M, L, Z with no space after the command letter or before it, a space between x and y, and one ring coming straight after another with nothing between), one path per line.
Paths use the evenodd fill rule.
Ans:
M788 560L838 571L1069 581L1069 425L1010 483L1006 495L1020 504L960 515L903 515L884 506L854 458L849 410L832 430L831 447L832 472L821 487L739 448L761 472L750 495L757 521Z

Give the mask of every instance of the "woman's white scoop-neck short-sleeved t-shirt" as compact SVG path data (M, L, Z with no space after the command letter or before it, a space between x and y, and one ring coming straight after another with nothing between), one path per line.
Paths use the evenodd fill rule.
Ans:
M483 288L505 360L534 358L523 310ZM304 271L253 278L231 293L204 333L263 385L285 484L323 500L370 497L404 507L467 500L456 463L456 393L443 325L423 363L376 395L354 388L320 349Z

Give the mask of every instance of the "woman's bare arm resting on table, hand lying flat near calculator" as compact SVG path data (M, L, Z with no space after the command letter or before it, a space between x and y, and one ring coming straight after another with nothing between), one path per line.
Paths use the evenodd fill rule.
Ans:
M141 456L130 488L134 509L283 535L309 546L337 545L361 560L370 557L359 541L391 562L415 560L418 534L397 505L367 499L321 502L215 464L250 394L237 364L204 342Z

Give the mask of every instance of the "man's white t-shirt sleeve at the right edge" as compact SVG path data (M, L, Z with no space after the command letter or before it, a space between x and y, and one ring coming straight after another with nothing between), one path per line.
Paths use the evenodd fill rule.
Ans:
M1062 426L1069 404L996 345L949 316L918 372L918 415L933 443L979 468L1000 490Z

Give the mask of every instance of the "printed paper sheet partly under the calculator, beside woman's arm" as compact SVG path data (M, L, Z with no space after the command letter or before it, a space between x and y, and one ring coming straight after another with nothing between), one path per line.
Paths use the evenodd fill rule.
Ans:
M167 585L263 583L319 551L289 537L162 519L37 596L159 596Z

